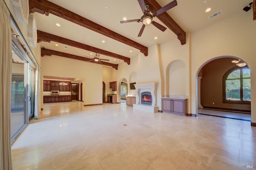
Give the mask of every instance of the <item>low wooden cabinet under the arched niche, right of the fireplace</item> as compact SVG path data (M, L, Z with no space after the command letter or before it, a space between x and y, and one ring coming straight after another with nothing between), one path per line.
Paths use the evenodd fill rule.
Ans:
M188 116L188 99L162 98L162 111Z

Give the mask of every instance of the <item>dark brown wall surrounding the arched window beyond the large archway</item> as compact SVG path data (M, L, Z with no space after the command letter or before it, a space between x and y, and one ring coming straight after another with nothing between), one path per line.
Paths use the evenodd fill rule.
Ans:
M216 59L207 63L201 75L201 105L208 107L221 107L250 110L248 104L227 104L222 102L222 78L224 74L235 67L231 61L234 58ZM214 102L214 104L212 104Z

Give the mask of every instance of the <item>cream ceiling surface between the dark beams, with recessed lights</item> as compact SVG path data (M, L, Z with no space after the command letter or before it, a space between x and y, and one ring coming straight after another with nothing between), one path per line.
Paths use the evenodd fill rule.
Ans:
M141 37L137 37L142 23L120 23L123 17L127 20L140 19L143 15L140 5L137 0L49 0L54 4L57 4L63 8L66 8L88 20L91 20L99 25L102 25L116 33L119 33L137 43L150 47L156 43L161 44L170 39L176 39L178 43L180 41L177 36L167 28L162 32L154 25L146 25ZM156 0L160 6L165 6L172 0ZM180 27L186 32L195 31L207 25L210 25L216 21L222 20L232 14L244 12L242 9L248 6L252 0L177 0L178 5L167 11L167 13L180 25ZM108 9L106 9L108 6ZM206 8L211 8L210 12L205 12ZM208 16L223 11L223 14L212 19L208 19ZM252 18L252 10L245 12L248 17ZM120 43L114 39L110 39L104 35L86 29L80 25L64 20L52 14L45 16L42 14L34 13L36 18L37 29L60 37L71 39L92 47L110 51L118 55L125 57L134 57L140 53L138 49ZM164 25L158 18L154 18L154 21ZM60 23L60 27L56 26L56 23ZM164 25L165 26L165 25ZM166 27L166 26L165 26ZM154 39L158 37L158 39ZM105 43L102 43L102 40ZM86 51L77 49L68 45L57 43L59 46L55 46L55 42L46 43L41 42L40 46L47 49L61 51L64 53L70 53L78 56L93 57L94 51ZM67 46L68 49L64 49ZM130 53L132 51L132 53ZM93 55L90 55L93 53ZM110 59L109 63L120 64L123 61L119 61L114 58L100 55L101 59ZM119 61L119 62L118 62Z

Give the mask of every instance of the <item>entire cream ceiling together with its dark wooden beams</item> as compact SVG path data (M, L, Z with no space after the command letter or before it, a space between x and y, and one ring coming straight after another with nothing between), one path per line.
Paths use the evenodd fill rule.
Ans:
M100 59L110 61L90 62L115 69L120 63L130 64L130 58L138 53L148 56L148 47L154 44L176 39L180 45L185 45L186 33L230 15L243 13L256 20L256 0L248 12L242 9L252 0L176 1L177 6L153 18L167 29L162 32L152 24L146 25L141 37L137 37L141 22L120 23L124 17L127 20L141 18L143 13L138 0L29 0L29 6L36 19L42 57L58 55L88 62L95 53L99 53ZM154 13L172 0L144 2L150 3L149 10ZM206 8L212 10L205 12ZM208 19L220 10L223 14ZM57 27L56 23L61 26Z

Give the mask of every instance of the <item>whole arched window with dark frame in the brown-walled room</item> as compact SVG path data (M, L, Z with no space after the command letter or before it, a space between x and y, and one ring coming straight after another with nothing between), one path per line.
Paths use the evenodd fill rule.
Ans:
M235 67L223 76L224 103L251 103L251 74L248 67Z

